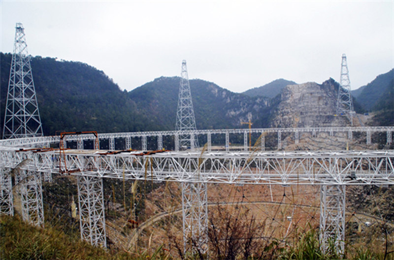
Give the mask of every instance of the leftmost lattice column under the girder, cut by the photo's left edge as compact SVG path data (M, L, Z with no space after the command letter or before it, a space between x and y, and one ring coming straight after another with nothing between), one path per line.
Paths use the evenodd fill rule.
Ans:
M14 215L11 173L0 168L0 214Z

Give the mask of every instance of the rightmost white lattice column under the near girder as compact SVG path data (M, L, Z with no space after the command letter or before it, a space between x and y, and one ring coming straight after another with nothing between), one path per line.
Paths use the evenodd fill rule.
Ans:
M322 185L320 189L320 241L327 252L330 243L345 252L345 185Z

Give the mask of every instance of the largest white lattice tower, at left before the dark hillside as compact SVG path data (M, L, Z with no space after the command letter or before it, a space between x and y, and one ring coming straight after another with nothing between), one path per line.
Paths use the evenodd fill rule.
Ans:
M17 23L2 138L42 135L25 30L21 23Z

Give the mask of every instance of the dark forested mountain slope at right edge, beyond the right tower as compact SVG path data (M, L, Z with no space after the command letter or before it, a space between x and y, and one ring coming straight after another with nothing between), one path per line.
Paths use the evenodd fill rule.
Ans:
M386 89L390 84L393 84L394 69L387 73L377 76L373 81L366 86L361 87L361 92L357 97L357 101L362 104L365 110L376 110L379 98L382 98ZM357 94L357 92L356 92Z

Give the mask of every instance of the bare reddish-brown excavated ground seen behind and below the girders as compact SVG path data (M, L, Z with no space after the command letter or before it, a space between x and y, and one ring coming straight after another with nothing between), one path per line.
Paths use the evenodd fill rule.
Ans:
M374 149L376 144L366 145L364 136L347 138L347 134L318 133L312 138L310 134L300 135L298 144L294 137L283 140L288 150L362 150ZM360 188L349 189L347 196L352 198L361 192ZM252 216L263 225L262 238L279 240L290 238L305 229L319 227L320 220L320 187L318 185L208 185L208 216L215 218L218 210L225 209L230 216L238 217L240 222L248 221ZM144 215L140 216L138 227L131 225L130 217L120 217L108 223L109 239L126 251L134 249L155 249L164 245L174 256L183 248L182 241L182 197L179 183L162 183L159 188L146 194ZM369 212L363 212L358 206L360 200L350 200L347 205L347 232L352 235L352 243L364 245L372 229L365 223L372 223L379 230L379 220ZM358 212L361 211L361 212ZM246 214L247 212L247 214ZM379 217L379 216L377 216ZM391 224L390 224L391 225ZM376 239L381 236L375 231ZM376 240L375 239L375 240ZM379 240L380 241L380 240Z

